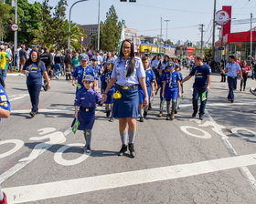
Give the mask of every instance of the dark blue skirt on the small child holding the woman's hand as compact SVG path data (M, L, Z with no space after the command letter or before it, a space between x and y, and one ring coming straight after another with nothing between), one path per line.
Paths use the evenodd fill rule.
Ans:
M95 121L95 109L89 112L80 110L78 113L78 119L80 121L79 130L92 129Z

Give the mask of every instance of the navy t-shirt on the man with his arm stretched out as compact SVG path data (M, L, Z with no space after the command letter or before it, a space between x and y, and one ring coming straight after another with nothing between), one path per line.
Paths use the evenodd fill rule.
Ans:
M208 75L211 75L211 69L208 65L194 66L189 75L195 76L193 87L207 88Z

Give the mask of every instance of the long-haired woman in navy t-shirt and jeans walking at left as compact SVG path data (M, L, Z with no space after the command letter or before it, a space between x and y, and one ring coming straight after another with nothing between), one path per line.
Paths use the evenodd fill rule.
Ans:
M48 73L43 61L40 60L39 53L32 50L29 58L23 66L22 73L27 75L27 90L32 104L30 117L34 117L38 112L39 94L42 87L42 76L48 82L48 89L50 88Z

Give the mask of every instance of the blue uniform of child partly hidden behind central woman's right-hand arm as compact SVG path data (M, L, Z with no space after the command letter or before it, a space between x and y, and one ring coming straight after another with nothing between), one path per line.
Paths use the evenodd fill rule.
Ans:
M148 94L148 101L150 101L150 97L152 94L151 83L153 83L154 81L155 81L154 71L152 70L152 68L148 67L147 69L145 69L145 85L146 85L147 94ZM139 85L139 93L140 93L140 104L143 104L145 94L141 85Z

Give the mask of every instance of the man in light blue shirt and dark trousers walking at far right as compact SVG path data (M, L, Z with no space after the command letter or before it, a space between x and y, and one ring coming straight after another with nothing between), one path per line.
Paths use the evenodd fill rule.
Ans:
M242 80L242 73L239 63L235 62L235 56L229 56L229 63L227 63L225 67L225 73L227 73L228 76L228 100L230 101L230 103L234 103L234 89L236 89L237 86L238 72L240 73L240 80Z

